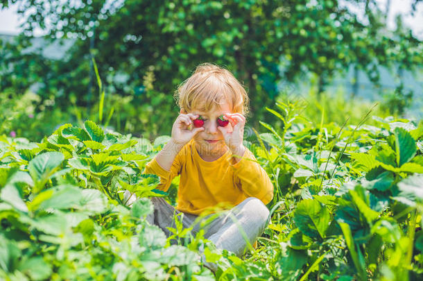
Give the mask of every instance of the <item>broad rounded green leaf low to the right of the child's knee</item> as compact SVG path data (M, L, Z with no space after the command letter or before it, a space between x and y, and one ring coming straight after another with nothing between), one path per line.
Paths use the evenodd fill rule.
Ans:
M309 237L326 237L331 216L329 210L318 201L307 199L297 205L294 222L301 232Z

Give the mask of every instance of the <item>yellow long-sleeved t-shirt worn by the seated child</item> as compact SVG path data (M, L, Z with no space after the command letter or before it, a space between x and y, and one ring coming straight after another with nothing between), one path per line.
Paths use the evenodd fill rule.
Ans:
M273 198L273 185L266 171L260 167L246 148L241 160L234 163L230 150L218 160L202 160L193 139L173 160L171 171L163 169L155 158L148 162L144 173L160 178L157 189L167 191L175 176L180 175L178 205L180 212L200 214L219 203L238 205L248 197L259 198L264 204Z

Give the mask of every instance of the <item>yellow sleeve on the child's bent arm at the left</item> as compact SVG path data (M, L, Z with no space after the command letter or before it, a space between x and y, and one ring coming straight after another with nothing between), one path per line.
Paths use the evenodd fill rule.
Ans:
M182 157L180 153L176 155L175 159L173 160L171 171L166 171L159 165L156 160L156 157L153 158L150 162L146 164L146 169L144 169L144 173L152 173L157 175L160 178L160 184L157 185L157 189L162 191L167 191L171 186L171 182L175 176L180 174L182 168Z

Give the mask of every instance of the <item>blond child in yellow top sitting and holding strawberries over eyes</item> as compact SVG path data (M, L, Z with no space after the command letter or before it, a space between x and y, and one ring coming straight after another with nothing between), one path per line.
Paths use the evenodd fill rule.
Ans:
M230 71L207 63L180 85L176 97L180 115L171 139L144 173L159 176L157 188L163 191L180 175L178 205L175 210L163 198L152 198L154 212L147 219L169 237L167 227L174 225L174 214L183 212L184 227L193 226L195 235L201 227L193 224L199 214L216 205L231 205L205 227L205 238L241 256L248 245L244 237L253 244L266 227L265 204L273 198L266 171L249 161L254 155L243 146L248 95ZM222 115L227 126L218 124ZM198 117L204 124L194 122Z

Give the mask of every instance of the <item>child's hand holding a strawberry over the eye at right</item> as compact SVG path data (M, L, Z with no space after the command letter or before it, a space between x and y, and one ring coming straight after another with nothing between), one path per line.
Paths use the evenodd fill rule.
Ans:
M229 120L232 130L230 130L231 126L218 127L218 130L222 132L225 143L232 151L232 154L242 157L245 152L245 147L243 146L245 117L241 113L226 113L223 116Z

